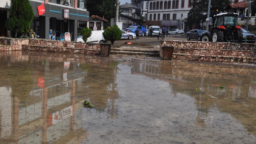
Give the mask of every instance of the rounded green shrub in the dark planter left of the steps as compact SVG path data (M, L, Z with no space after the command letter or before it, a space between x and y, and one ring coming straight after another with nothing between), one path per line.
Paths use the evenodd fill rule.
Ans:
M115 41L119 41L122 37L122 31L118 28L117 25L106 28L102 33L104 39L111 42L113 45Z

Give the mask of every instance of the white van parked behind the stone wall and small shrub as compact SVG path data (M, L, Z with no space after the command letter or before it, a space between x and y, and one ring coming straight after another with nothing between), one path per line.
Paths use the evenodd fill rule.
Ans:
M91 37L88 37L87 39L87 42L90 42L90 43L104 43L104 42L108 42L104 39L102 33L104 31L103 30L100 30L100 31L92 31L91 32ZM79 35L76 39L76 42L84 42L83 41L83 36L82 35Z

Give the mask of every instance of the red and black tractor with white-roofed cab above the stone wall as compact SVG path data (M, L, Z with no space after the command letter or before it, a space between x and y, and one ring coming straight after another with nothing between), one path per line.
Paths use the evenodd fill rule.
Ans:
M241 26L237 26L237 13L219 13L214 15L215 22L211 33L206 31L202 35L202 41L212 42L242 42L243 32Z

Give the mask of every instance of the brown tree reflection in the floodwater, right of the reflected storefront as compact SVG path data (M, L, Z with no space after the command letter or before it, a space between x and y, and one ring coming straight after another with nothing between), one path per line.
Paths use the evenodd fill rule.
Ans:
M83 79L83 87L85 98L96 106L99 113L108 110L111 118L117 116L117 106L115 99L119 98L118 92L115 90L116 73L119 68L119 62L107 62L102 59L99 64L86 63L80 64L83 71L87 71L87 77Z

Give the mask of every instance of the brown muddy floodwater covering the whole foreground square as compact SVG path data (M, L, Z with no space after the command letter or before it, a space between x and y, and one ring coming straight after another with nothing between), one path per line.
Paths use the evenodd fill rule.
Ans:
M252 66L22 51L0 70L0 144L256 142Z

